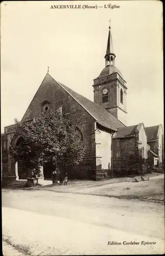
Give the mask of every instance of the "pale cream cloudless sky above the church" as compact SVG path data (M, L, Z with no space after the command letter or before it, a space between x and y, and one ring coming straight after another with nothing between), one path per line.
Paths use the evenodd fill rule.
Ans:
M93 101L93 79L105 67L109 18L115 66L127 81L127 125L163 123L160 1L18 1L1 4L2 132L14 118L21 120L48 66L55 80Z

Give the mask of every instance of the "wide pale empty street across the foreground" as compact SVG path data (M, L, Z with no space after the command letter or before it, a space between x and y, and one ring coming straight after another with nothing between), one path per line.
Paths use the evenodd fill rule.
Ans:
M25 248L26 254L164 252L164 207L160 203L6 189L2 204L3 239ZM127 244L131 241L139 244Z

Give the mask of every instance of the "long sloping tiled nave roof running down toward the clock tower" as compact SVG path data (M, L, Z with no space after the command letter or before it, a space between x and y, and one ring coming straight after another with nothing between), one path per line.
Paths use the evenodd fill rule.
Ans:
M56 80L54 80L54 81L56 81ZM124 126L123 123L121 123L111 113L107 112L102 106L100 106L97 103L94 103L93 101L85 98L84 96L74 92L73 90L71 90L70 88L68 88L67 86L65 86L62 83L58 82L58 84L66 92L68 92L91 116L93 116L94 119L96 120L96 122L99 123L100 125L108 128L108 129L111 129L113 131L116 131L119 129L119 127Z

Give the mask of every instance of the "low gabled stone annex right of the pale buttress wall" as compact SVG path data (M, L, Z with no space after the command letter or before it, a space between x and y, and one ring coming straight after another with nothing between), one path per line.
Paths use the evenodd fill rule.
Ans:
M146 173L148 151L143 123L119 128L113 137L113 172L116 175Z

